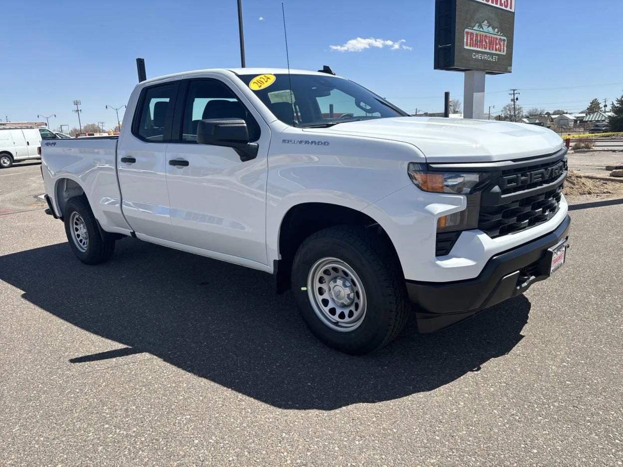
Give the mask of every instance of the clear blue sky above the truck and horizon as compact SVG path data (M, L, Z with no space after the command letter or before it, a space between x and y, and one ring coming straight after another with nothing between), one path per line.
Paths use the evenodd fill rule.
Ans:
M623 94L623 1L516 0L513 73L487 77L485 106L580 111ZM240 65L235 0L2 2L0 118L77 126L116 125L105 105L126 103L136 57L147 76ZM290 67L338 75L404 110L442 111L444 91L463 96L462 73L433 70L434 0L285 0ZM281 2L243 0L247 66L285 67ZM263 19L260 19L263 18ZM348 40L397 43L340 52ZM404 40L404 42L400 42ZM486 111L486 109L485 109Z

